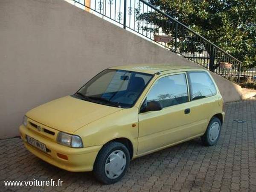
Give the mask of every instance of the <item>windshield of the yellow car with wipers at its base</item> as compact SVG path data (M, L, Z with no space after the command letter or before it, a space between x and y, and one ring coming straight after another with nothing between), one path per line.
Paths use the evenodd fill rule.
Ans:
M131 108L152 75L125 70L104 70L88 81L74 96L102 105Z

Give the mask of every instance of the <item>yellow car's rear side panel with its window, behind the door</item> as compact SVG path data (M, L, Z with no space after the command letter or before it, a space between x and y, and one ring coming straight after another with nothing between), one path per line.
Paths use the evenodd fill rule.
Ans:
M219 96L217 89L209 74L205 71L188 71L187 77L190 90L190 117L191 128L187 131L187 137L204 134L209 120L218 113Z

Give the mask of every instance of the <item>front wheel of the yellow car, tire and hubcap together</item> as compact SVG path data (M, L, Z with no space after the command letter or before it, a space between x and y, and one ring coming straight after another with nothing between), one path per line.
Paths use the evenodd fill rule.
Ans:
M116 183L125 175L129 164L130 154L127 147L122 143L111 142L99 151L93 173L102 183Z

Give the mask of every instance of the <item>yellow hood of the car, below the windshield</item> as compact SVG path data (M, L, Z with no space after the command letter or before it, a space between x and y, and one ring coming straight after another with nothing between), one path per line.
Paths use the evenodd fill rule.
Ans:
M120 110L122 108L65 96L33 108L26 116L50 128L72 134L82 126Z

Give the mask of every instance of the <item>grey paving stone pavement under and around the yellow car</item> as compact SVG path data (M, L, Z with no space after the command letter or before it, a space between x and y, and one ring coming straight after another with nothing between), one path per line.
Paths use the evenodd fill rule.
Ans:
M256 98L225 105L217 145L200 139L131 161L118 183L102 185L91 172L72 173L30 154L19 138L0 140L0 191L256 192ZM245 123L233 120L241 119ZM62 186L5 186L6 180L55 180Z

